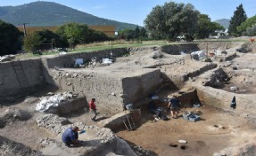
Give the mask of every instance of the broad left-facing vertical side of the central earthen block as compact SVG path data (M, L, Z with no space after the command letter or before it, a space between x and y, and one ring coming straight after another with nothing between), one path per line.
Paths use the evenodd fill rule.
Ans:
M85 103L91 98L96 99L96 104L101 112L108 110L117 113L122 110L122 84L119 78L106 74L83 72L58 72L51 71L54 85L60 90L72 91L79 96L86 97Z

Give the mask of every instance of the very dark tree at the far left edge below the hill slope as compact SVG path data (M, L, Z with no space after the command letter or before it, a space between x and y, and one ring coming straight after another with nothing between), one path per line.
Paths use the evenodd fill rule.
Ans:
M0 55L16 53L21 50L22 33L12 24L0 20Z

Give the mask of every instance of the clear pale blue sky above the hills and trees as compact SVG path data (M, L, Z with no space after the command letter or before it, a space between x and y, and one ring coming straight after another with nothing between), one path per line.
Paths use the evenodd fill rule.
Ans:
M29 4L38 0L0 0L0 6ZM81 12L87 12L100 18L117 20L144 26L146 16L156 5L163 5L170 0L45 0L69 6ZM212 21L231 19L236 7L243 4L247 17L256 15L255 0L171 0L176 3L193 4L203 14L208 14Z

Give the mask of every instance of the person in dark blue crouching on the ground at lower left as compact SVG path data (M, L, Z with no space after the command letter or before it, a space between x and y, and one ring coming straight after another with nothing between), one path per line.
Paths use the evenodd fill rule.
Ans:
M81 144L82 141L78 140L78 127L72 126L64 131L62 134L62 142L66 146L70 146L71 144Z

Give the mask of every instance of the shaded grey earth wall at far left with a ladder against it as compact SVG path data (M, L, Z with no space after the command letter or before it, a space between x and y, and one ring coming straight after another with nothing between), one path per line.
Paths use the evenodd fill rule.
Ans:
M0 97L25 95L42 84L44 84L44 77L40 59L0 64Z

